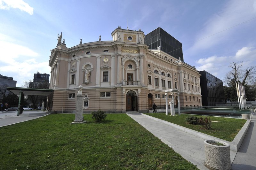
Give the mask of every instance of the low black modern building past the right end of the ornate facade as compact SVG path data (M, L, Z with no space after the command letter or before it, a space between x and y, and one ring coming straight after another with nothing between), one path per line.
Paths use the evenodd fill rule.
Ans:
M223 82L207 71L199 72L202 104L203 106L215 106L215 104L223 104L225 102Z

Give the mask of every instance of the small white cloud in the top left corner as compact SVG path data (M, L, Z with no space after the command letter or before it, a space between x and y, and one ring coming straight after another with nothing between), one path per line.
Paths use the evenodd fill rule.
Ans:
M34 8L29 6L22 0L0 0L0 9L10 10L11 8L18 8L21 11L25 11L30 15L33 15Z

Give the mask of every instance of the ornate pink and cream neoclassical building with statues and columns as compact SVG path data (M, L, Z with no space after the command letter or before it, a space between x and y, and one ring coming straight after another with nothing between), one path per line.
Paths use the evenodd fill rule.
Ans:
M62 35L62 34L61 34ZM165 90L180 90L181 107L202 106L200 74L195 67L161 50L149 50L144 33L116 28L112 41L82 43L51 50L49 112L74 113L78 86L83 86L83 112L148 112L165 105ZM61 37L58 37L59 39ZM174 94L177 105L177 94ZM168 94L168 102L172 100Z

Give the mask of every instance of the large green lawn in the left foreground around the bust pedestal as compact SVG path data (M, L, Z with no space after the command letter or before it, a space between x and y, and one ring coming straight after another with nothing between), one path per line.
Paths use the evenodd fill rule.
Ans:
M0 128L1 169L197 169L126 114L74 114Z

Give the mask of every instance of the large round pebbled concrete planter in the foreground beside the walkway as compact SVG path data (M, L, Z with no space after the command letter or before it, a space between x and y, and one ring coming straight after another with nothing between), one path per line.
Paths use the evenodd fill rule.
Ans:
M225 146L210 143L222 143ZM231 169L229 144L217 140L204 141L205 164L215 169Z

